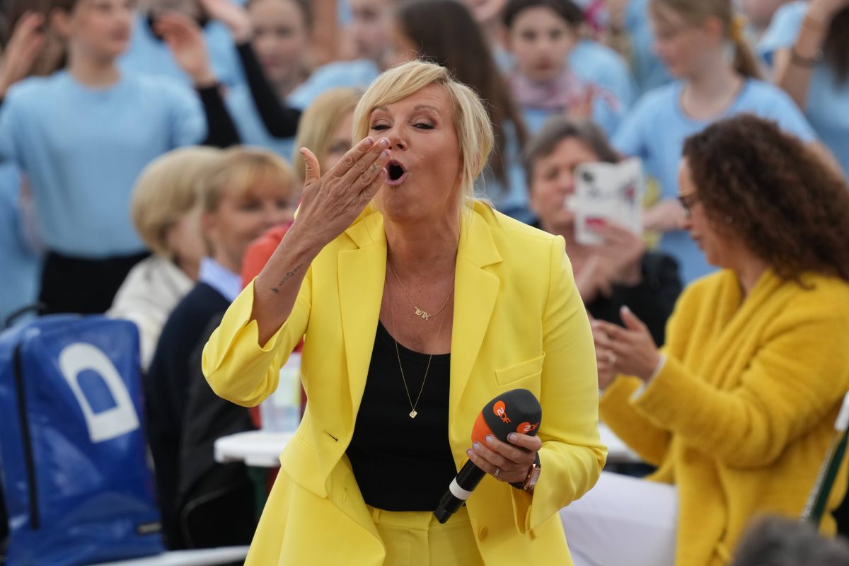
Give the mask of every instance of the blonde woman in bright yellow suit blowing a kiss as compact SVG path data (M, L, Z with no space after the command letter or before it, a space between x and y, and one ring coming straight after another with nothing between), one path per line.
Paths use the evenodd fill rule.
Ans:
M323 176L304 151L299 216L204 350L216 393L252 406L272 393L278 368L305 339L306 413L281 455L247 563L570 564L557 512L593 486L606 450L592 333L563 239L472 199L492 126L474 92L441 67L410 62L387 71L363 95L354 123L354 138L368 137ZM450 352L450 379L441 384L447 423L439 426L453 470L440 481L447 488L469 458L489 475L444 525L430 509L369 505L358 479L374 478L357 478L346 455L358 417L369 417L358 410L379 323L396 348ZM413 417L427 422L439 407L417 405L417 387L404 379L408 399L386 410L404 426ZM425 377L422 390L437 386ZM540 400L538 436L469 446L481 408L514 388Z

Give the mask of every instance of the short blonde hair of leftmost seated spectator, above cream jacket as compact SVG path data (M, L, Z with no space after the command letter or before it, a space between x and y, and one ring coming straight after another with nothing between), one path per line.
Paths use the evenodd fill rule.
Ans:
M171 258L168 229L197 205L200 182L221 155L220 149L207 147L174 149L151 161L138 176L130 216L153 253Z

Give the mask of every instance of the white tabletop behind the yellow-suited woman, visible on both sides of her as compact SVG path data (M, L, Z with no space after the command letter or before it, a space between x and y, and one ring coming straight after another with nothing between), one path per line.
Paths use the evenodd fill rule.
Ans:
M601 441L607 446L607 461L612 463L640 462L640 458L604 423L599 423ZM251 430L223 436L215 442L216 462L245 462L257 468L279 468L280 452L294 433L272 433Z

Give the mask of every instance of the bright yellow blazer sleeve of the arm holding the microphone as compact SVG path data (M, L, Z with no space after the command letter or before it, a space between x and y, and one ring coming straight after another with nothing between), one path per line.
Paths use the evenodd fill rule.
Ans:
M533 530L599 479L607 448L599 437L599 382L593 334L563 238L551 248L543 311L542 474L533 495L511 490L516 526Z

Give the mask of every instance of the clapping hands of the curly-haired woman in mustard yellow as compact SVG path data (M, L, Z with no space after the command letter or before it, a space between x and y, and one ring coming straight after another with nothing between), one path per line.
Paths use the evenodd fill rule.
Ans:
M600 320L591 322L602 389L617 373L648 381L661 361L649 328L627 306L621 308L620 316L625 328ZM607 383L602 383L603 374Z

